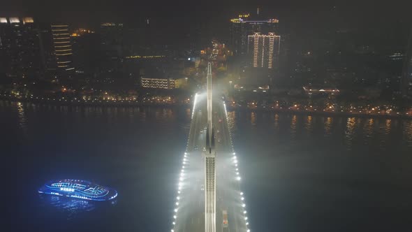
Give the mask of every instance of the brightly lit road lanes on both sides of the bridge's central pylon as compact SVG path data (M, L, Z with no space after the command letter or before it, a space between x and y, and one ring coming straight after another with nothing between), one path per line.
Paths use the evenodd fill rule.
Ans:
M216 142L216 232L246 232L242 195L233 159L233 145L223 101L214 99L213 125ZM207 125L207 98L198 96L187 146L187 163L173 231L205 231L205 164L203 147ZM222 210L228 212L228 227L223 228Z

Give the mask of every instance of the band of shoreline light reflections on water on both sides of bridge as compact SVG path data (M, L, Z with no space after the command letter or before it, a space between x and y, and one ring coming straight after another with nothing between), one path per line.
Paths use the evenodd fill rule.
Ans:
M171 108L145 108L145 107L98 107L98 106L51 106L47 104L32 103L7 103L2 106L15 107L17 113L17 123L22 132L27 130L29 116L33 113L49 111L61 115L72 115L76 121L82 122L84 118L102 118L116 126L119 118L125 118L126 122L156 121L160 124L168 124L177 121L177 115ZM285 113L263 113L249 112L249 117L239 117L244 112L228 111L228 126L232 133L235 133L240 123L244 124L244 119L251 125L252 129L258 129L265 124L272 124L273 132L288 133L292 140L304 136L311 136L316 133L323 133L324 137L344 135L343 142L348 150L351 150L353 143L361 142L364 145L374 143L378 147L385 148L388 145L388 136L399 135L402 143L412 146L412 120L391 119L391 118L364 118L364 117L334 117L318 115L288 115ZM184 111L184 117L190 118L191 109ZM62 117L65 121L66 117ZM182 125L182 124L181 124ZM173 127L170 128L174 129ZM400 133L399 133L400 132ZM282 136L285 136L282 134Z

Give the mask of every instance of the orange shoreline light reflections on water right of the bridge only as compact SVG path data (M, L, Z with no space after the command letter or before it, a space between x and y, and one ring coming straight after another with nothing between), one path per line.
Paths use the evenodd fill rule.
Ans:
M249 117L244 117L246 115ZM230 129L245 123L250 125L252 131L272 125L272 131L268 133L274 133L275 138L279 139L289 138L293 143L300 140L309 143L312 138L322 136L330 137L333 143L343 144L345 150L353 150L354 146L370 145L381 150L390 150L390 147L396 146L398 142L412 146L412 120L409 119L323 117L242 111L228 112L228 117L228 121L234 123L233 126L230 125Z

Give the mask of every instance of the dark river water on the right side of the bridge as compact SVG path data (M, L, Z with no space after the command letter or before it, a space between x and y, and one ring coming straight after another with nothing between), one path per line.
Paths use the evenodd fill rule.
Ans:
M246 115L240 111L235 114ZM391 226L403 223L410 228L409 218L399 218L412 210L411 198L404 194L411 190L412 120L263 112L256 117L256 125L239 117L236 123L243 130L233 141L246 173L243 186L249 194L256 193L248 200L251 222L259 222L256 227L263 224L256 231L270 231L267 228L277 228L279 222L284 224L280 231L304 231L290 225L314 214L307 222L322 227L328 222L316 222L318 215L329 217L335 209L345 220L339 218L319 231L343 228L347 215L356 223L344 231L362 227L358 224L361 217L369 217L365 223L368 229L371 222L381 219ZM251 129L254 127L259 130ZM299 212L307 209L307 213L300 219L284 216L290 208ZM260 218L277 214L281 215L277 222L272 222L272 216Z

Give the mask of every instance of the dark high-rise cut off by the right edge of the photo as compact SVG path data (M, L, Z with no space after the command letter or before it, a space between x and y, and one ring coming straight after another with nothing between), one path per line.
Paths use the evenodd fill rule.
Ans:
M402 71L401 92L403 96L412 96L412 29L409 34L408 48L404 57Z

